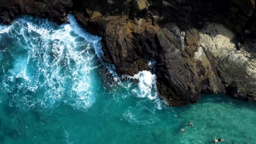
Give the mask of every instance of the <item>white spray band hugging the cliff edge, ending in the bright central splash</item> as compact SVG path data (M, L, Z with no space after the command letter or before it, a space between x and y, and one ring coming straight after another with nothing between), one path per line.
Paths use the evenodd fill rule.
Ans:
M89 33L87 33L84 29L82 29L81 26L76 22L75 17L71 14L68 14L68 19L70 26L72 27L75 34L83 37L86 41L89 43L92 43L92 47L95 49L95 54L98 56L98 59L102 62L102 64L108 68L109 72L114 77L114 85L121 85L123 88L130 88L132 85L131 79L137 79L138 82L138 88L135 88L132 90L132 92L135 92L138 97L148 97L149 99L153 100L156 99L158 96L158 91L156 88L156 75L151 74L151 72L148 71L142 71L134 76L128 76L128 75L122 75L121 77L118 77L117 73L115 72L115 65L109 64L107 62L104 62L102 60L102 56L104 55L102 51L102 46L100 43L101 37L93 36ZM148 65L152 69L152 72L155 70L155 60L151 60ZM160 108L160 103L158 102L158 108Z

